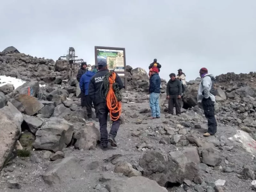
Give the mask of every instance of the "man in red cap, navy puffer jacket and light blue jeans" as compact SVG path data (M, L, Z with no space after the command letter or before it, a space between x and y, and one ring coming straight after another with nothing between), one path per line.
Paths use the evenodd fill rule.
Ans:
M149 105L151 108L150 119L160 118L159 96L161 78L158 75L158 68L151 68L151 78L149 79Z

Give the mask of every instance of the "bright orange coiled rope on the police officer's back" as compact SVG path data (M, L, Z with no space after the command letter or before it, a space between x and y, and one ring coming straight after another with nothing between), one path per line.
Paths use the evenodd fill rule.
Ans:
M113 88L113 84L115 83L116 73L112 72L111 76L109 77L109 89L108 94L106 97L107 100L107 107L110 114L110 119L112 121L116 121L121 116L122 110L122 103L121 101L117 101L116 94ZM118 115L117 115L118 114Z

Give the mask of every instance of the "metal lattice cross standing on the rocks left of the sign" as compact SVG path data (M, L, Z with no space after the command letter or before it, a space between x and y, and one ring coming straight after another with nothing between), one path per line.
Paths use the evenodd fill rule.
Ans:
M63 58L65 64L67 65L67 78L74 77L76 74L76 66L78 64L81 65L81 63L84 61L83 59L76 59L76 51L73 47L69 47L67 51L67 55L60 56L60 58ZM65 59L66 58L66 59ZM64 63L63 63L64 64ZM64 65L65 65L64 64Z

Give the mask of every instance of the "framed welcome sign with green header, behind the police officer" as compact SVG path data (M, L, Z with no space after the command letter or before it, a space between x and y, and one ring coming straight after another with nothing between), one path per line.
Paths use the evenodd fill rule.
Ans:
M127 89L125 48L95 46L95 65L102 59L107 60L108 69L115 70Z

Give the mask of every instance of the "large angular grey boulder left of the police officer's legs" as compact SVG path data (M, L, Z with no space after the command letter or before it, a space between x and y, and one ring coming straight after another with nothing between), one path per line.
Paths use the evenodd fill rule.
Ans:
M73 124L66 120L51 117L36 132L36 140L33 146L36 149L61 151L70 144L74 132L73 128Z

